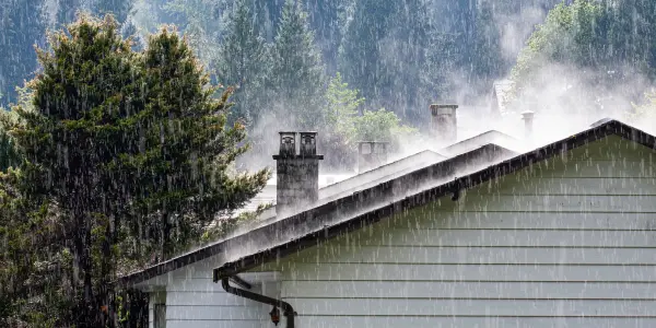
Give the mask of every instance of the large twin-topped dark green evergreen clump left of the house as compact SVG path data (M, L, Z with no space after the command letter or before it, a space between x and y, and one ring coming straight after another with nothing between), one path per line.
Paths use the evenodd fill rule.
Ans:
M16 108L9 128L26 157L21 190L56 211L58 229L42 238L56 249L42 250L63 274L50 285L57 304L71 304L56 326L99 327L116 311L109 282L125 266L184 249L268 173L226 172L246 150L244 127L225 126L230 92L212 97L175 33L152 36L140 54L110 17L82 16L67 32L39 50L34 109Z

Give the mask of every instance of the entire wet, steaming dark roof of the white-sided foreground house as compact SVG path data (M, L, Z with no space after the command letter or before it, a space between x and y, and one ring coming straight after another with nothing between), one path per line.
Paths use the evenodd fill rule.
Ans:
M210 256L234 249L235 259L215 269L214 278L236 274L257 265L298 251L317 244L318 239L333 237L378 222L402 209L426 203L453 192L454 188L470 188L492 178L520 169L532 162L549 159L560 152L577 148L600 138L617 134L654 149L654 137L617 120L607 120L570 138L536 150L518 153L496 144L485 144L452 159L429 164L403 173L391 173L368 181L364 189L324 199L313 209L289 218L272 220L266 225L242 235L214 243L157 263L119 279L121 284L136 284L171 272ZM394 164L394 163L391 163ZM469 167L468 172L460 169ZM454 179L454 175L457 177ZM348 180L348 179L347 179ZM398 183L398 184L397 184ZM365 183L366 184L366 183ZM407 186L398 194L394 185ZM367 200L370 200L367 202ZM372 201L376 200L376 201ZM338 214L336 214L338 213ZM347 215L344 215L347 214ZM339 218L338 218L339 216ZM285 232L281 234L280 232Z

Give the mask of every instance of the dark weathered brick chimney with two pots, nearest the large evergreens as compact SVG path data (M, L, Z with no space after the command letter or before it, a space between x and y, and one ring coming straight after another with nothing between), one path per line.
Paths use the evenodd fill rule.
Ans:
M278 216L292 214L318 200L319 161L324 155L317 155L317 132L280 132L280 152L273 160L277 162Z

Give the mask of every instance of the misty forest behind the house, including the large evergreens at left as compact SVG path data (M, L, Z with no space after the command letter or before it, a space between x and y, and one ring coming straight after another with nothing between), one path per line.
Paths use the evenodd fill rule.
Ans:
M254 220L280 130L343 169L499 80L537 113L656 107L649 0L0 1L2 327L148 325L113 282Z

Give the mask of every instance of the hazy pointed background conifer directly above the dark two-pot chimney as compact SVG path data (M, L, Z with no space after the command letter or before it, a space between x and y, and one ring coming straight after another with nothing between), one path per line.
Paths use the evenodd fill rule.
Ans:
M321 122L321 96L326 82L321 56L314 44L307 14L296 0L282 10L273 46L269 85L278 114L297 128L317 129Z

